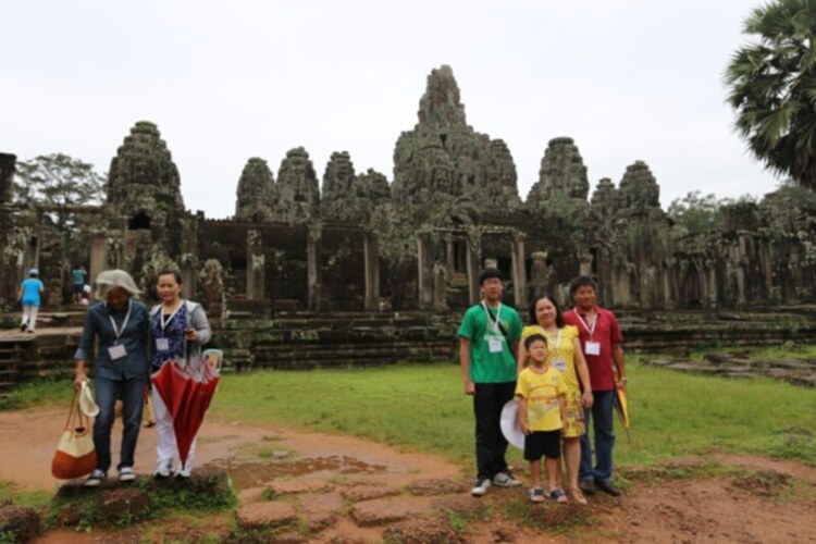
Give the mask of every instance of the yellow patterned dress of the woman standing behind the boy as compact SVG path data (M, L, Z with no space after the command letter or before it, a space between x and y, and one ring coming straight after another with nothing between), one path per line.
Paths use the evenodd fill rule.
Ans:
M531 334L542 334L547 338L547 364L561 372L567 385L565 401L567 405L566 420L561 435L565 438L581 436L586 428L581 407L581 386L576 372L576 353L573 338L578 337L578 327L567 325L558 334L547 334L541 325L526 326L521 331L521 341Z

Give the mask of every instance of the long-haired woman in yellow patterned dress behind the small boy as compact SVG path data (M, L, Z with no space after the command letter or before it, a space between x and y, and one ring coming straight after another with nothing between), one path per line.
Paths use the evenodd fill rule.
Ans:
M590 371L578 339L578 329L564 322L558 302L549 295L533 301L530 307L530 322L532 324L521 331L522 341L536 333L547 338L547 364L561 372L569 390L566 398L566 425L561 432L564 460L567 466L567 493L576 503L586 504L578 486L578 469L581 463L580 438L586 432L583 411L592 406L592 386ZM519 373L524 369L528 359L523 344L519 344Z

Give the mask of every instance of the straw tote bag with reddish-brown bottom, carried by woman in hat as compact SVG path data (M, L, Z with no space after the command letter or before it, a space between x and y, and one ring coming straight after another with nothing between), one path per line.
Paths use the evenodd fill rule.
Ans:
M77 393L74 393L65 430L60 436L51 461L51 474L60 480L72 480L89 474L95 468L97 452L94 448L90 419L83 415L77 403Z

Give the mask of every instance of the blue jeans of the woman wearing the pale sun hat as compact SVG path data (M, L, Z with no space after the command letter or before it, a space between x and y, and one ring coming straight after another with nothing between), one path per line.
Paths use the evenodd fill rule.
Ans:
M145 387L148 376L124 380L94 379L99 415L94 421L94 446L97 449L97 469L108 472L111 467L111 428L113 426L116 399L122 394L122 452L116 470L133 467L136 441L141 426L141 409L145 405Z

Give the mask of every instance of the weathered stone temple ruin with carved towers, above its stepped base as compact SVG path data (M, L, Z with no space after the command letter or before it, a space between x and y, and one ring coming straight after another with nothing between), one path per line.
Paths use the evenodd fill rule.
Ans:
M394 178L358 173L332 153L322 190L308 151L276 174L251 158L234 218L185 209L181 175L157 125L138 122L111 161L108 199L89 243L90 275L122 267L147 279L182 269L187 296L213 309L458 312L479 298L478 270L495 262L508 302L562 298L578 273L601 281L618 309L742 308L816 301L816 197L783 187L724 209L721 226L689 233L659 206L657 177L632 161L617 187L592 190L578 144L549 140L527 200L507 145L468 125L449 66L433 70L417 124L396 138ZM0 299L25 268L67 273L37 242L36 215L14 205L15 158L0 154ZM34 218L34 219L32 219ZM50 262L54 261L54 262ZM207 263L207 264L205 264ZM221 269L215 269L219 263ZM202 270L206 269L206 272Z

